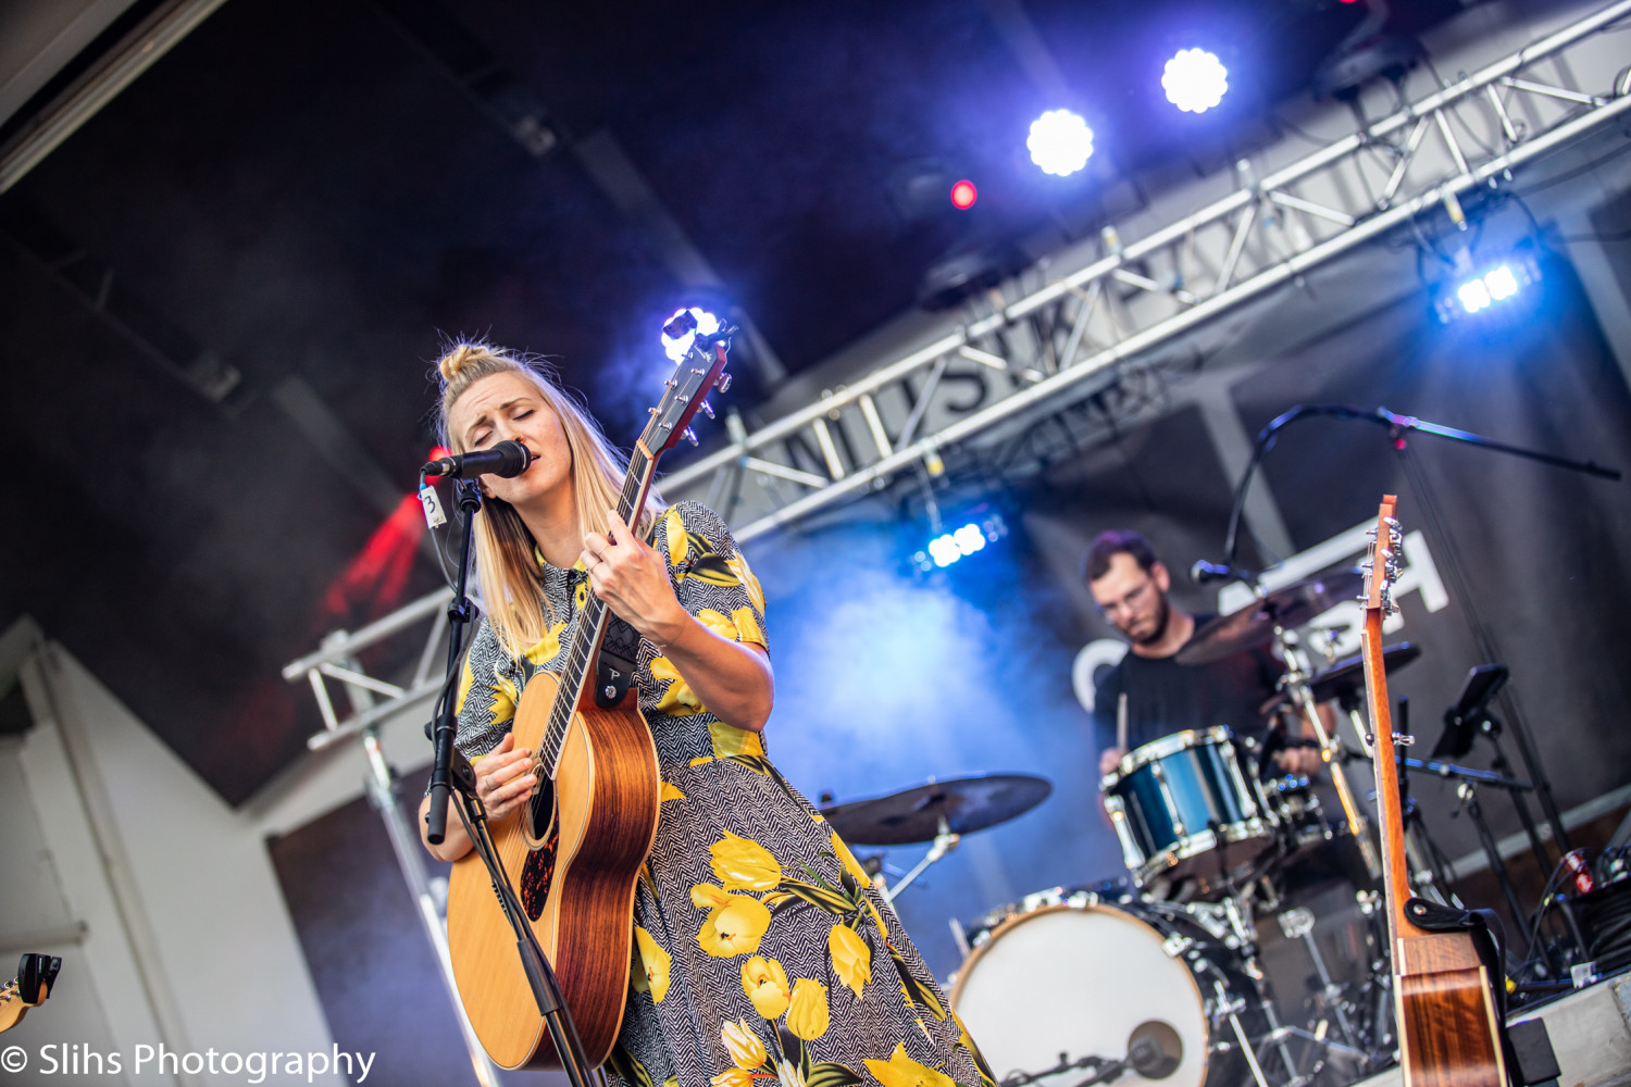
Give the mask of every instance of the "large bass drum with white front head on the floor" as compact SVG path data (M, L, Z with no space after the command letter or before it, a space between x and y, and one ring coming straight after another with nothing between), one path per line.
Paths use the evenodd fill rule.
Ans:
M1085 1056L1127 1056L1143 1023L1178 1033L1178 1069L1158 1080L1129 1067L1117 1084L1230 1087L1246 1063L1228 1020L1218 1017L1218 983L1248 1036L1264 1022L1240 957L1186 908L1129 900L1059 904L1000 924L969 955L951 989L953 1007L998 1080L1036 1076ZM1168 1035L1169 1036L1169 1035ZM1091 1072L1091 1067L1086 1069ZM1209 1076L1210 1072L1210 1076ZM1080 1082L1083 1067L1047 1076L1045 1087Z

